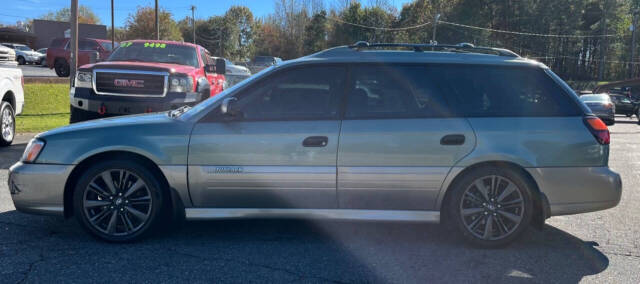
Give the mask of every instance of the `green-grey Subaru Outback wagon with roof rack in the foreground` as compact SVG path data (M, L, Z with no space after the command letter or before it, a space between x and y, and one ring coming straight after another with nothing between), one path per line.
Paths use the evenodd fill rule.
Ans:
M616 206L608 144L541 63L469 44L358 43L193 108L42 133L9 188L18 210L75 216L114 242L176 217L328 218L443 221L494 247L550 216Z

